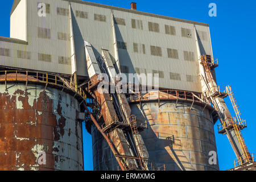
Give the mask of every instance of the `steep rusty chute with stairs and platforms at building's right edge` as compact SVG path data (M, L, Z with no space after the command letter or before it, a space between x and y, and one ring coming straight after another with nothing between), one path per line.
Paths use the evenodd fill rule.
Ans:
M226 86L225 90L220 92L220 89L217 87L217 84L213 78L212 69L210 67L212 63L210 62L211 61L209 61L209 56L201 56L200 63L203 65L205 70L205 78L203 76L202 77L207 88L205 96L209 98L214 109L217 111L218 118L221 122L221 126L218 127L220 129L219 133L226 134L228 136L228 139L232 144L237 158L240 159L243 164L251 162L253 159L251 158L250 152L247 150L241 133L241 130L246 127L246 122L240 117L241 112L238 108L231 87ZM236 113L236 118L231 117L229 110L226 107L224 100L222 99L227 96L229 96L230 101L232 102L232 106Z

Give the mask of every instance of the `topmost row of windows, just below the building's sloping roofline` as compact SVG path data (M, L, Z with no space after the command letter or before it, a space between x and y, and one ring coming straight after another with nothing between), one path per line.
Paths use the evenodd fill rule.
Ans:
M50 13L50 7L49 6L50 6L49 4L47 4L47 6L46 6L46 10L47 10L48 14ZM64 9L62 7L57 7L57 14L58 15L63 15L63 16L68 16L69 10ZM79 18L83 18L83 19L88 18L88 13L85 12L85 11L76 10L75 14L76 14L76 17L79 17ZM106 22L106 15L94 14L94 20L100 21L100 22ZM122 25L122 26L126 26L125 19L123 19L123 18L115 18L114 23ZM139 29L139 30L143 30L142 20L131 19L131 27ZM176 29L175 29L174 26L170 26L170 25L165 24L164 25L164 30L165 30L167 35L176 35ZM148 31L160 32L159 23L148 22ZM198 34L199 34L200 39L208 40L207 32L198 31ZM192 37L191 29L181 28L181 36L183 36L185 38L191 38Z

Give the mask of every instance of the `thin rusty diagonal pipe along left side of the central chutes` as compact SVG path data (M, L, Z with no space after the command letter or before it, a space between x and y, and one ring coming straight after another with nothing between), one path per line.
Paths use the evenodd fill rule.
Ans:
M108 142L110 149L112 150L113 154L116 156L118 155L117 152L115 151L115 148L112 144L112 142L109 140L109 138L107 137L107 135L101 130L100 125L98 125L98 122L96 121L96 119L93 117L92 113L90 112L90 110L88 109L88 107L86 106L86 104L84 103L84 107L85 110L87 111L88 114L90 114L90 118L92 119L94 125L97 127L98 131L100 131L100 133L102 134L102 136L106 139L106 142ZM116 157L117 159L117 163L119 164L119 166L121 167L122 171L126 171L125 167L123 167L123 164L121 163L121 160L119 159L119 157Z

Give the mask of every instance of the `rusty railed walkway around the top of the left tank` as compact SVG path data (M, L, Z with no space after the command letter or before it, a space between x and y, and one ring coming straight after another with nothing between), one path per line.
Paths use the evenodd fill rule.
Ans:
M55 85L61 88L67 88L72 90L76 94L79 94L86 101L86 94L80 87L76 92L75 85L70 84L67 80L64 82L64 78L60 78L59 75L48 74L43 72L33 71L0 71L0 81L24 81L26 82L39 82L48 85ZM46 88L45 87L45 88Z

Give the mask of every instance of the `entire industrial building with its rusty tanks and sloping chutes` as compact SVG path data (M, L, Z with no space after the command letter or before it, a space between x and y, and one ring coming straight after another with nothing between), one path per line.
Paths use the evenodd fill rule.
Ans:
M0 170L218 170L214 124L254 169L230 86L216 84L209 25L79 0L15 0L0 37ZM108 75L114 93L97 89ZM119 93L119 73L129 93ZM140 76L159 76L142 92ZM149 79L149 78L148 78ZM138 89L137 89L138 88ZM223 98L229 97L232 117ZM46 154L46 163L40 157Z

